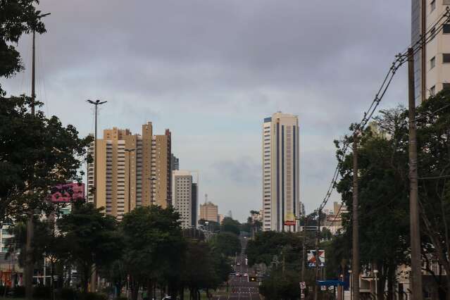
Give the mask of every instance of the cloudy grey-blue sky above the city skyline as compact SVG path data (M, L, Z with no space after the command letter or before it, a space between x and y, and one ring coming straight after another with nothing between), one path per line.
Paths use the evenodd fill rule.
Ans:
M299 116L300 200L317 208L335 169L334 139L361 120L394 60L411 42L407 0L41 0L51 13L37 37L37 98L85 136L86 99L108 101L99 132L169 128L183 170L204 194L245 220L262 207L262 123ZM30 94L27 70L2 80ZM406 66L380 108L407 103ZM339 194L330 199L340 201Z

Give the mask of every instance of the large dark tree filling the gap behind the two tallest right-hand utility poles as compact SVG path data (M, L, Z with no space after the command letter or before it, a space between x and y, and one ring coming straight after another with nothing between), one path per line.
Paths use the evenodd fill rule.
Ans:
M379 271L379 287L387 280L388 299L394 294L396 268L407 263L408 253L408 155L407 123L404 108L381 111L380 115L359 137L358 185L360 256L363 265ZM353 127L351 127L351 130ZM346 137L346 142L353 142ZM349 208L344 228L352 230L353 154L337 156L341 180L337 192ZM395 185L392 183L395 182ZM347 249L351 249L348 239ZM349 259L349 257L346 257ZM339 262L335 262L339 265ZM380 289L381 290L381 289Z

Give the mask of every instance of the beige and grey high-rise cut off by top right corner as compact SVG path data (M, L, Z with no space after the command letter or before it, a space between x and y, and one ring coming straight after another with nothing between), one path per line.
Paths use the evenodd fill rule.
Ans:
M450 0L412 0L411 3L411 43L436 34L414 56L415 102L418 104L442 89L450 89L450 24L444 24L439 32L436 32L439 26L435 26Z

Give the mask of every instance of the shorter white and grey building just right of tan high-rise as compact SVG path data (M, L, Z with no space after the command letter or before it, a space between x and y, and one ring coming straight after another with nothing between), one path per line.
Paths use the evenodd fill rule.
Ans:
M197 184L192 174L185 170L172 172L173 207L180 213L183 228L196 226L196 191Z

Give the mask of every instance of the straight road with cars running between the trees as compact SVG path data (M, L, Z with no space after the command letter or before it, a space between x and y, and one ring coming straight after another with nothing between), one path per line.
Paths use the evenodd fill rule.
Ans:
M249 275L254 274L253 270L245 264L245 247L247 244L246 239L241 239L242 252L237 256L237 261L241 265L236 266L237 273L247 273ZM261 296L258 293L259 282L249 282L248 277L236 277L230 276L229 291L227 296L214 296L213 299L225 300L225 299L251 299L261 300Z

